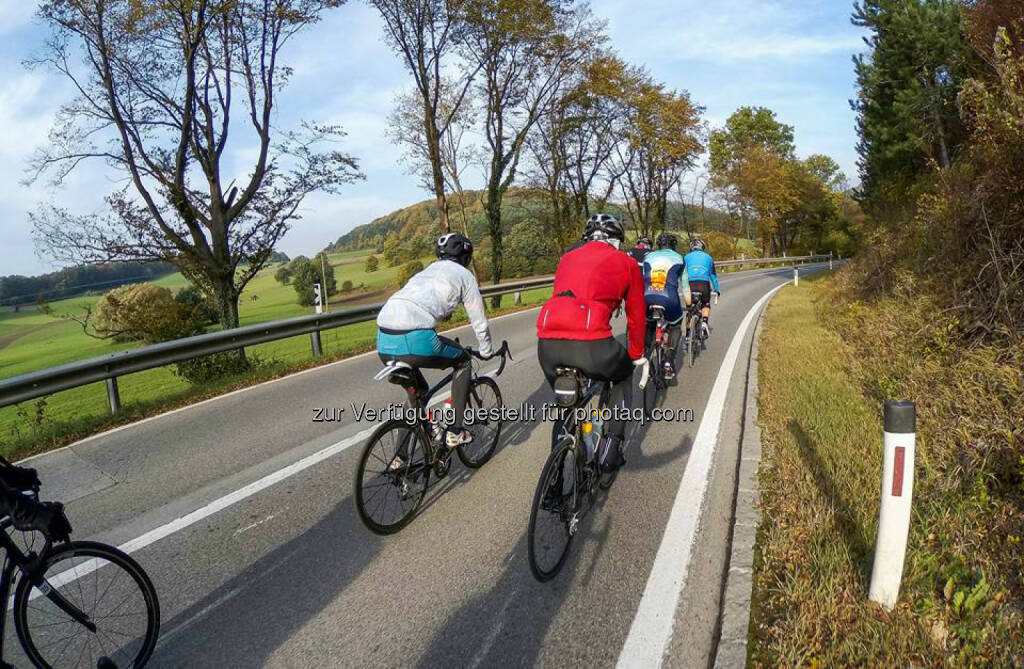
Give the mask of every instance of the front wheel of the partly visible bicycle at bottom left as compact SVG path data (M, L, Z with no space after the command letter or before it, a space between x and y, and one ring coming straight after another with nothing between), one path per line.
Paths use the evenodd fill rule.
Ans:
M50 553L14 591L14 629L37 667L144 666L160 633L150 577L123 551L75 541Z

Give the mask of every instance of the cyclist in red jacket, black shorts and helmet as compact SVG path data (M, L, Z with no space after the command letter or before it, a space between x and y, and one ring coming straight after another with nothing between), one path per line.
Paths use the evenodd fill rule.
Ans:
M554 294L537 319L537 354L549 384L556 368L574 367L588 377L610 383L610 408L633 404L633 369L646 364L646 305L643 276L631 256L618 250L623 224L609 214L587 221L585 244L565 255L555 270ZM629 348L611 335L611 316L626 302ZM610 420L598 446L605 470L625 464L622 453L626 421Z

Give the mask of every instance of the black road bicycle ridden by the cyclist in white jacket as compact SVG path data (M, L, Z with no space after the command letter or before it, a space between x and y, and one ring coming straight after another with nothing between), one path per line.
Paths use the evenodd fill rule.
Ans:
M466 351L477 361L500 358L495 376L501 376L511 360L508 342L484 358L472 348ZM466 413L472 418L464 427L473 441L456 447L459 459L471 469L482 466L498 447L504 423L502 393L498 382L478 374L474 363L469 382ZM413 519L423 501L433 472L438 478L452 467L452 451L443 444L444 413L430 410L436 392L452 382L455 370L428 386L423 373L408 363L388 363L374 378L387 379L406 389L412 419L393 418L382 423L367 443L355 469L355 508L367 528L376 534L398 532ZM397 466L396 466L397 465Z

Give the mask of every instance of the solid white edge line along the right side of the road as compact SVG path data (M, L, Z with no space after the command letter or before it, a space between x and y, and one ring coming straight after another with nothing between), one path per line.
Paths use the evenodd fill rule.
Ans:
M669 521L657 548L654 563L647 578L643 597L637 608L630 633L618 655L618 669L660 667L669 643L672 641L676 608L690 567L693 545L696 542L700 513L708 493L712 462L718 442L718 430L725 410L725 396L729 389L733 368L739 357L746 331L755 315L788 282L768 291L757 301L736 329L732 343L719 368L715 385L708 398L708 407L697 428L693 448L686 461L683 478L679 483L676 499L672 504Z

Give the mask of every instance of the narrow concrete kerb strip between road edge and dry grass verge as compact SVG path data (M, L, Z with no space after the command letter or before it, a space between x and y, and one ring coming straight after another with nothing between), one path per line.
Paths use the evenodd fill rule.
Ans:
M751 622L754 546L761 525L761 491L758 469L761 466L761 427L758 425L758 353L765 304L754 328L751 357L746 367L746 393L743 400L743 427L739 444L736 498L733 507L729 570L726 575L720 613L720 636L715 651L715 669L746 666L746 639Z

